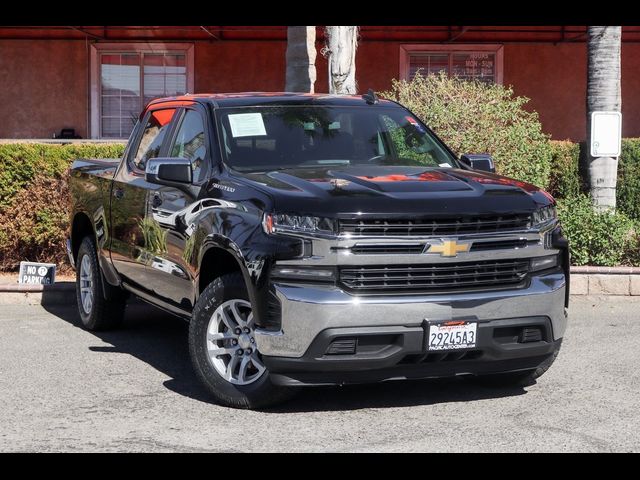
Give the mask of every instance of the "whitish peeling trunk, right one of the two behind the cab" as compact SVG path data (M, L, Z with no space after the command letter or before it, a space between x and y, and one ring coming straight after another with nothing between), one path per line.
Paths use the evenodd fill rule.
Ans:
M329 93L355 95L358 27L327 27L324 55L328 55Z

